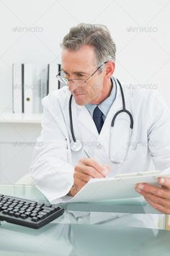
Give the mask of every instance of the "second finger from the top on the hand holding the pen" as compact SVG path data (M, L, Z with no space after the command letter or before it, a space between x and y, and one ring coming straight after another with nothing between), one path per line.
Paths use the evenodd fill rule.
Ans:
M75 166L75 174L78 173L89 175L91 178L104 178L104 174L100 174L95 168L91 166L85 166L84 164Z

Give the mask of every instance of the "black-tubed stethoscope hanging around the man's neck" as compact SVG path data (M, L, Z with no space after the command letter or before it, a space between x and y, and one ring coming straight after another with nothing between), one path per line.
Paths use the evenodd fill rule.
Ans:
M122 97L122 109L120 111L117 111L117 113L113 116L112 123L111 123L111 129L115 126L115 119L117 118L117 116L124 112L124 113L128 114L128 116L130 118L130 131L132 131L133 130L133 116L130 113L130 111L128 111L125 107L125 96L124 96L124 93L123 93L123 90L122 90L122 85L121 85L119 80L117 80L117 82L120 86L120 92L121 92L121 97ZM72 109L71 109L72 98L73 98L73 95L71 95L71 97L70 97L69 106L68 106L70 127L71 127L71 136L73 138L73 140L71 141L71 150L74 151L74 152L79 152L81 150L81 148L83 147L83 145L82 145L82 142L80 140L76 140L76 137L75 137L74 132L73 132L73 118L72 118Z

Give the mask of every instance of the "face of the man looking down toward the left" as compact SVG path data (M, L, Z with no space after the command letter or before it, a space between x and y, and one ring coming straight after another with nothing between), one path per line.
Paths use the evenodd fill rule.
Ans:
M78 51L64 49L62 52L62 69L68 79L87 80L97 69L94 49L91 46L82 46ZM79 82L77 83L79 85ZM98 71L86 82L84 86L69 82L69 90L78 105L95 103L104 90L104 72Z

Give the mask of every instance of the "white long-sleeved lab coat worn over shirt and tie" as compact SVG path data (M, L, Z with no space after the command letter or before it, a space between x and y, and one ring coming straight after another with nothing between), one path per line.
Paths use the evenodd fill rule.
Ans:
M156 90L123 88L125 103L133 115L134 127L131 142L127 140L130 119L127 114L117 116L111 135L111 121L122 109L120 87L109 109L100 134L85 106L78 106L72 99L73 130L77 140L94 155L99 163L109 163L109 176L138 171L169 171L170 167L170 112ZM30 168L38 189L52 201L68 194L73 185L74 166L86 157L83 150L73 152L68 101L71 93L67 87L56 90L43 98L42 132L37 139ZM119 134L117 134L117 132ZM125 141L124 141L125 140ZM109 160L109 143L115 158L128 149L125 161L120 164Z

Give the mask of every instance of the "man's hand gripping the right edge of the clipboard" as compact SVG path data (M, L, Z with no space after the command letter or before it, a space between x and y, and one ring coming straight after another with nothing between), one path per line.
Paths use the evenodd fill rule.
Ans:
M137 184L136 192L145 197L146 201L161 213L170 214L170 178L158 178L161 187L146 183Z

